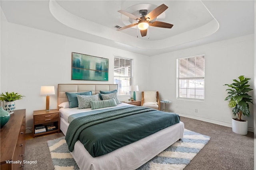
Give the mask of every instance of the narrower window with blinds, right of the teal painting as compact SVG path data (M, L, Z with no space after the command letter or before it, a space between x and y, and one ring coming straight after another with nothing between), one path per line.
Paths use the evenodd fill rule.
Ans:
M114 84L118 84L118 95L130 95L132 59L114 57Z

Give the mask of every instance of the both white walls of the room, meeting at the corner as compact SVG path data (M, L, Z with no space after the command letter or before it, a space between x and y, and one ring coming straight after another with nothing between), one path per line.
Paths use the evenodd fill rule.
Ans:
M1 13L2 14L2 13ZM134 59L134 84L139 85L136 97L143 90L158 90L160 98L172 100L168 110L182 116L231 126L232 111L224 101L226 83L239 75L254 81L254 36L247 35L210 43L189 49L147 57L49 33L22 25L6 22L1 15L1 61L0 92L14 91L26 96L16 101L16 109L26 109L26 126L32 126L34 110L45 109L45 96L40 86L60 83L113 83L114 55ZM109 59L109 81L71 80L71 52L83 53ZM176 99L176 59L205 55L205 101L194 102ZM253 87L253 86L252 86ZM120 97L127 100L129 96ZM50 96L50 108L57 108L57 93ZM198 113L194 109L198 109ZM253 106L248 119L249 130L253 127Z

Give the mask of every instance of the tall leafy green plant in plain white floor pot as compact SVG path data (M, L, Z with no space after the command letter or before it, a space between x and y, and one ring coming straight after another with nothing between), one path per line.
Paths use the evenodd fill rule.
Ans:
M252 103L252 96L247 94L250 92L251 88L249 88L248 80L250 78L244 78L244 76L239 76L239 80L233 80L232 84L224 84L224 86L230 87L226 91L228 92L228 96L225 100L229 100L228 107L233 108L233 114L238 118L232 118L232 131L238 133L240 135L246 135L248 129L248 121L242 119L242 115L250 116L249 111L249 103Z

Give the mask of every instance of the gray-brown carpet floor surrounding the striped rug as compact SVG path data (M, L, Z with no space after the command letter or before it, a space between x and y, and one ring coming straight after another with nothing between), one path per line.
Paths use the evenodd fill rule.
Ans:
M238 135L224 127L181 117L185 128L211 137L208 144L192 159L184 170L253 170L254 134ZM54 170L47 141L64 136L62 133L36 137L26 141L24 170Z

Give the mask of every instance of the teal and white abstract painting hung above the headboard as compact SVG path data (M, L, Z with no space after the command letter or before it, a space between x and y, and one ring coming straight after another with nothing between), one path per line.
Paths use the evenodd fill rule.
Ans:
M71 80L108 81L108 59L72 52Z

